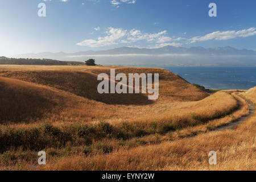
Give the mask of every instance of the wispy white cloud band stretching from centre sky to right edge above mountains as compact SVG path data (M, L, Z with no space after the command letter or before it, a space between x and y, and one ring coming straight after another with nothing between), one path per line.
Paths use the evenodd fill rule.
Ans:
M94 28L99 31L100 27ZM106 36L97 39L85 39L77 43L77 46L86 47L105 47L114 44L126 44L126 46L134 46L136 42L144 42L148 48L158 48L164 46L182 46L183 44L192 44L207 40L228 40L234 38L246 38L256 35L256 28L251 27L239 31L216 31L204 36L195 36L193 38L184 38L176 36L168 36L166 30L154 33L142 32L141 30L124 30L122 28L109 27L105 31ZM183 36L187 33L183 33Z

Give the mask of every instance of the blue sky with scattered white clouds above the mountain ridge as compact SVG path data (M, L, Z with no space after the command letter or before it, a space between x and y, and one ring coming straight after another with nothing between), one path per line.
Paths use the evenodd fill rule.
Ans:
M38 4L46 4L46 17ZM216 3L217 17L208 15ZM256 1L1 0L0 55L122 46L256 50Z

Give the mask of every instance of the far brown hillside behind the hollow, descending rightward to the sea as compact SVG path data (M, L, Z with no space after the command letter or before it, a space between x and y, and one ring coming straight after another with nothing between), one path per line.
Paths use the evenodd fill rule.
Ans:
M80 67L81 68L81 67ZM164 102L174 101L198 101L207 96L208 93L197 89L183 78L159 68L115 68L115 73L159 73L159 100ZM3 76L18 80L34 82L40 85L47 85L53 88L64 90L89 98L104 102L106 104L122 105L145 105L152 104L145 94L98 94L97 75L108 73L109 68L85 69L82 70L55 70L55 71L7 71Z

